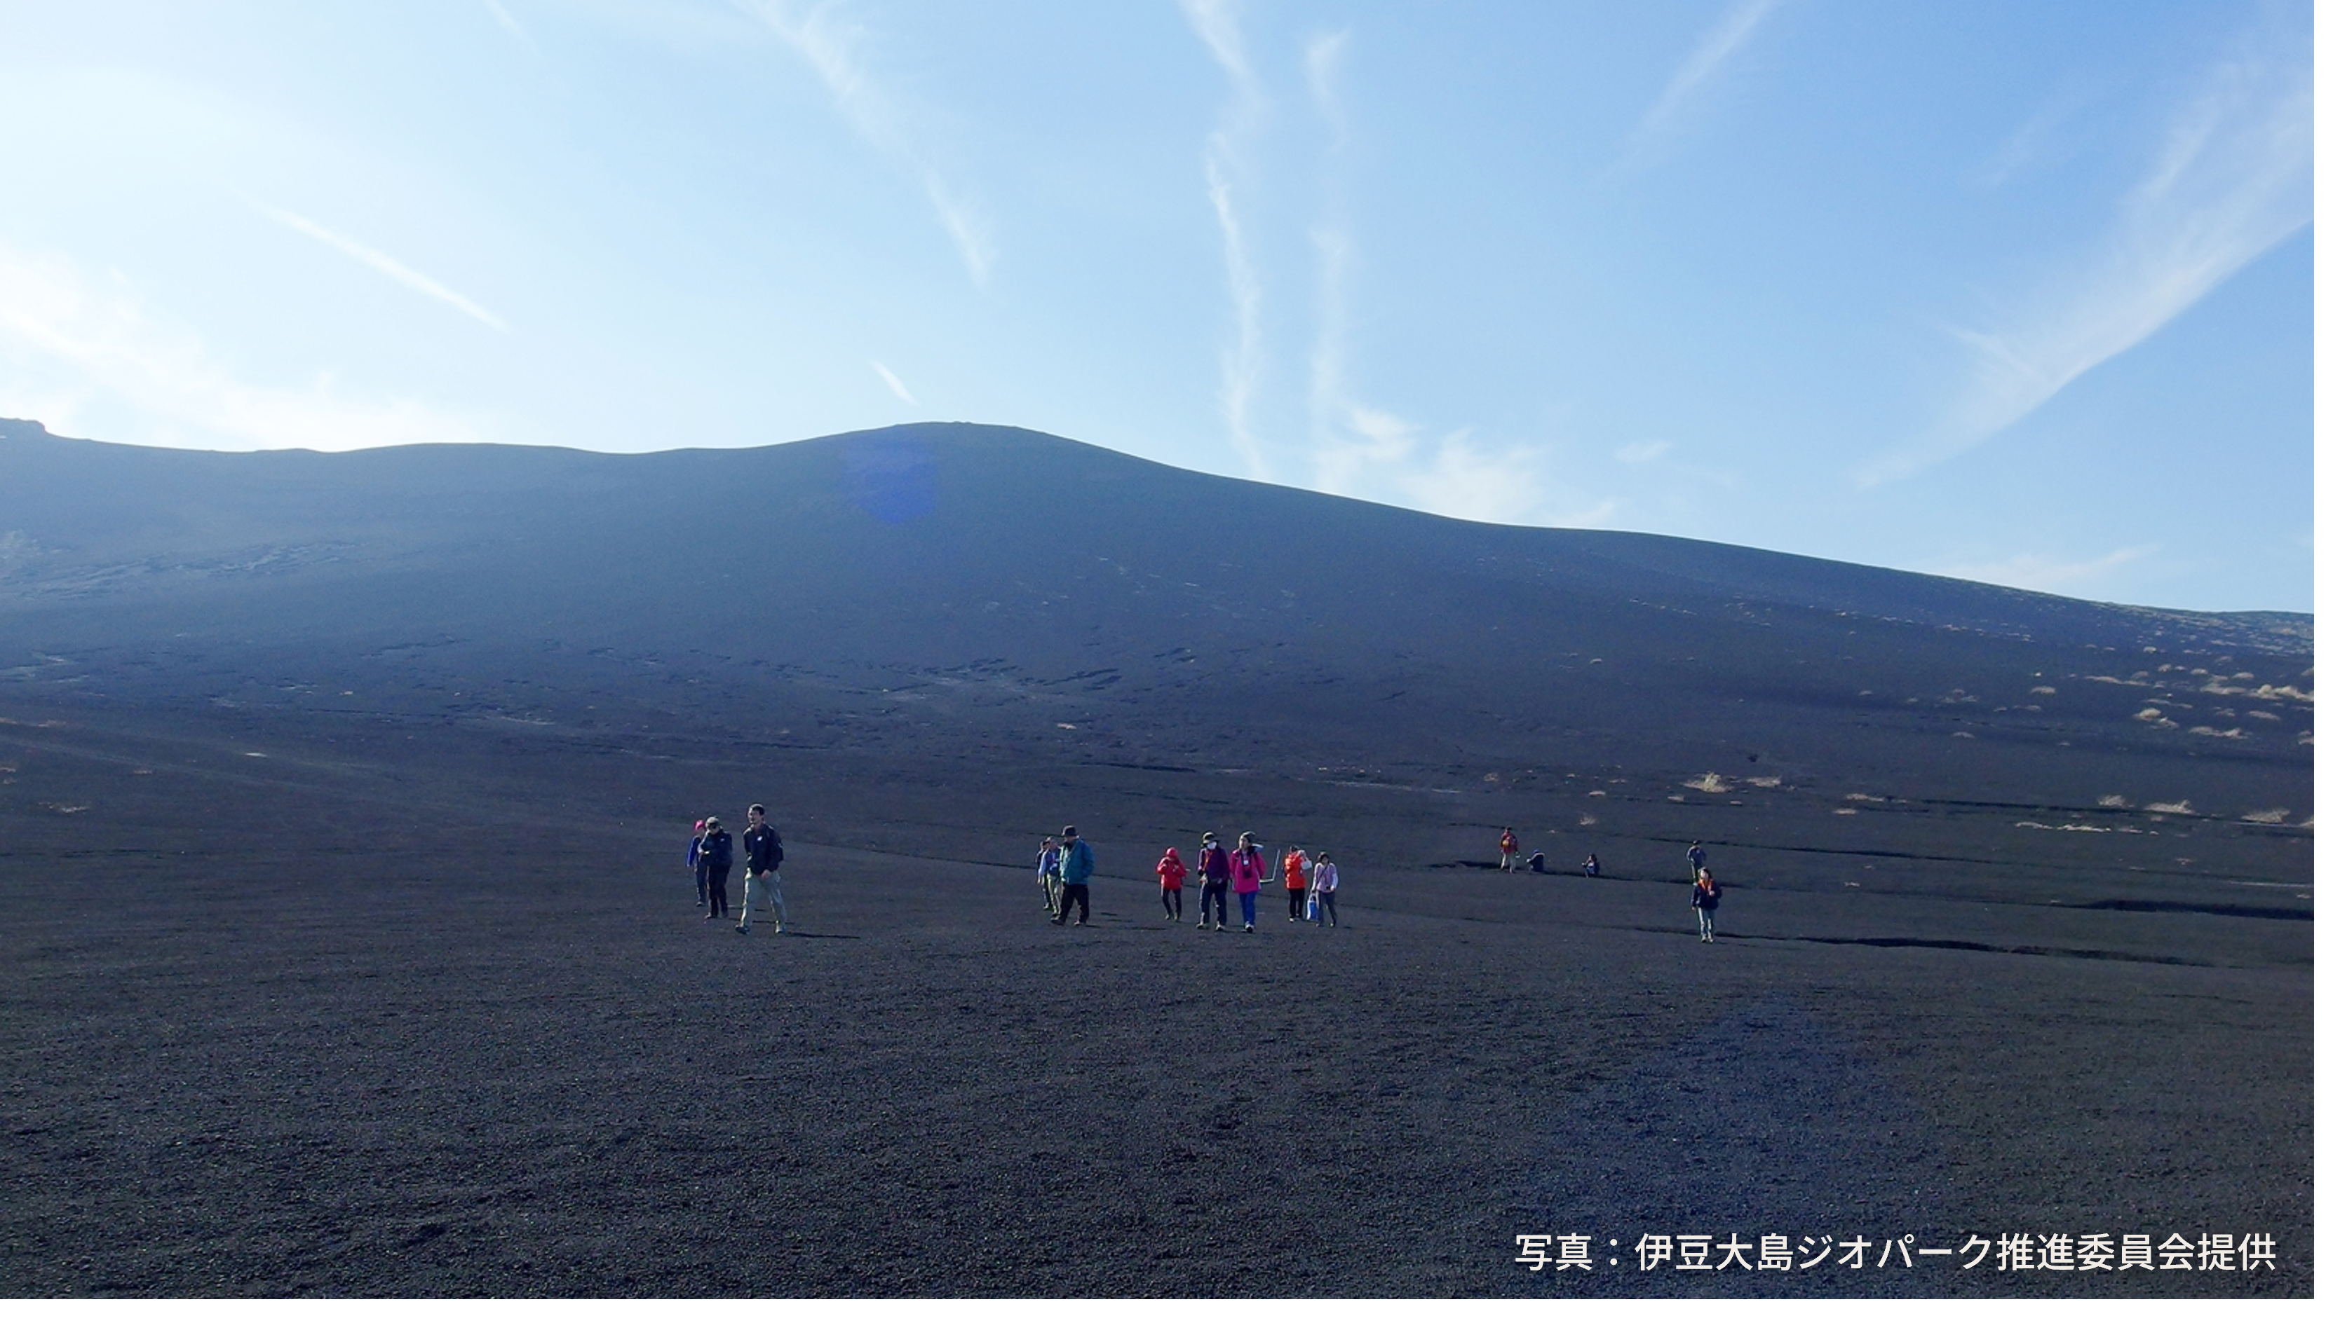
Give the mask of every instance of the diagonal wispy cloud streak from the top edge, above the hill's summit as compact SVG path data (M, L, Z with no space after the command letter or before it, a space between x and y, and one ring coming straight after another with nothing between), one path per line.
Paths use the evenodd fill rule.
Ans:
M849 19L842 0L821 0L796 14L786 0L735 0L782 42L817 70L835 110L870 147L896 161L924 189L924 198L947 231L973 285L987 285L996 266L996 231L978 203L966 198L947 175L915 145L908 114L882 84L868 61L863 26Z

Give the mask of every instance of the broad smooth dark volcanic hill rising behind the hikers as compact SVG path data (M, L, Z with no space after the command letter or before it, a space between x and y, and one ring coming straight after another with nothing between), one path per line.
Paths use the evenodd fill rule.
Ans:
M2300 807L2300 616L1484 527L971 425L639 457L12 425L0 471L0 667L54 691L630 747Z

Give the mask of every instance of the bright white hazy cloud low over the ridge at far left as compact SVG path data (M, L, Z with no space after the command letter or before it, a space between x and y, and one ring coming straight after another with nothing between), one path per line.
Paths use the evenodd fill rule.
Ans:
M0 401L63 434L128 429L138 443L373 448L481 439L418 401L245 383L203 341L156 315L126 278L91 280L61 257L0 243Z

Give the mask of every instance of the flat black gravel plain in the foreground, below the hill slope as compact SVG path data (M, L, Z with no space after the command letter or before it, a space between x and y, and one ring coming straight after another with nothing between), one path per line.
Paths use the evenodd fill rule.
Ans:
M1118 791L1094 926L1055 929L933 789L898 835L931 856L796 831L796 931L740 938L670 826L583 784L61 735L0 747L9 1293L2303 1288L2289 917L2051 908L2065 873L2025 903L1745 882L1698 945L1682 880L1341 854L1346 929L1267 891L1255 936L1199 933L1134 880ZM1598 1269L1533 1274L1519 1232ZM1647 1232L2279 1260L1638 1274Z

